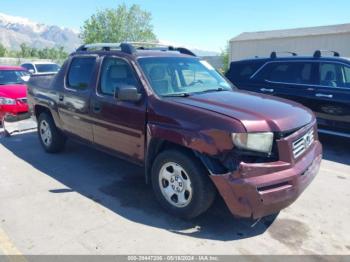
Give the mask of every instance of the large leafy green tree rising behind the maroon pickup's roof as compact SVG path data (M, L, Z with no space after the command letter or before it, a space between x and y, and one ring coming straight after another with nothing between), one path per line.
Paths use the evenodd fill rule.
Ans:
M121 4L116 9L98 11L86 20L81 28L81 38L87 44L155 41L151 20L151 13L140 6L128 8L126 4Z

